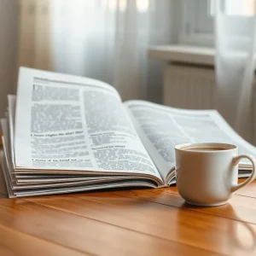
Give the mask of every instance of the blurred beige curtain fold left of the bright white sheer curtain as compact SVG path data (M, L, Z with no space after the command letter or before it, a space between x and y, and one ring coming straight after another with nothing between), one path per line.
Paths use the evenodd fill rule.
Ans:
M18 67L52 70L50 0L19 0Z

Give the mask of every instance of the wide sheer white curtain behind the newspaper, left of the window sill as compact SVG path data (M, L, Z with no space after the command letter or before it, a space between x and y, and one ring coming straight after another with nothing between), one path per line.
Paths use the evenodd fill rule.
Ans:
M160 64L148 46L169 44L169 0L53 0L55 70L112 84L123 100L160 101ZM154 98L155 95L158 97Z

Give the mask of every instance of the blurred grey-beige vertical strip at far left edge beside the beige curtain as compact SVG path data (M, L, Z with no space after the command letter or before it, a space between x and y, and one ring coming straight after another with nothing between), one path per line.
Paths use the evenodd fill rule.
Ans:
M15 93L17 56L17 0L0 0L0 117L7 107L7 95Z

